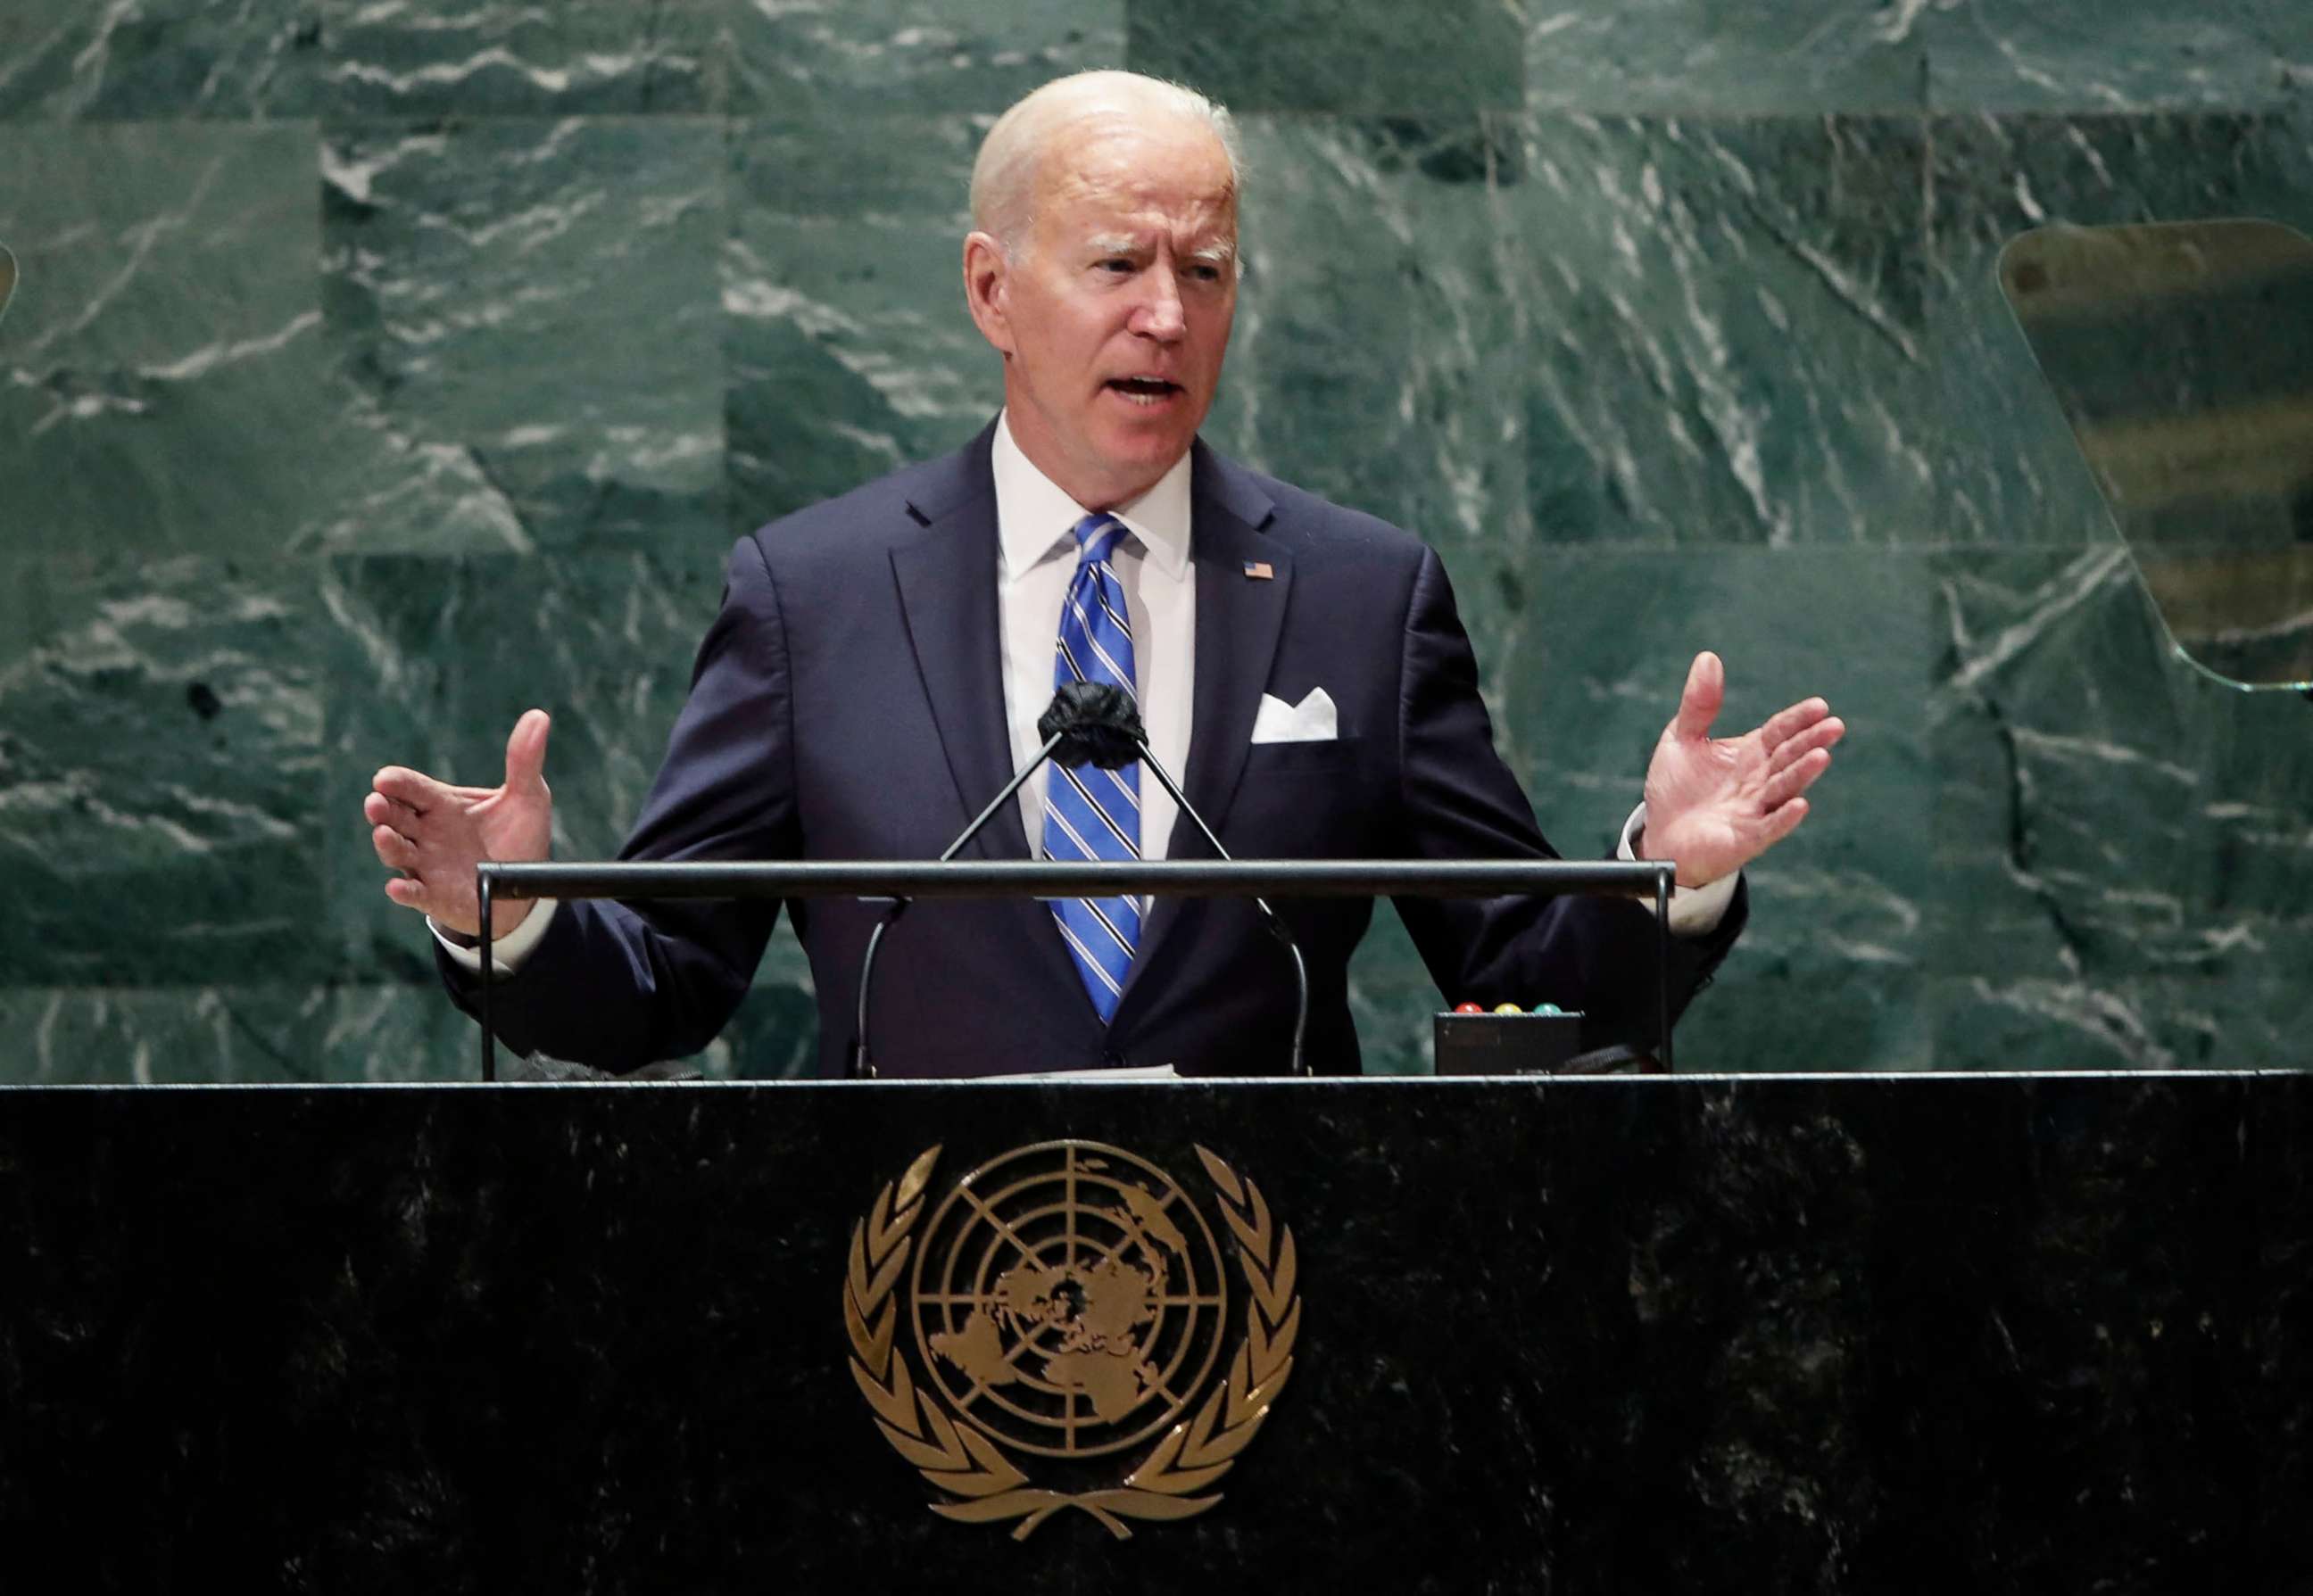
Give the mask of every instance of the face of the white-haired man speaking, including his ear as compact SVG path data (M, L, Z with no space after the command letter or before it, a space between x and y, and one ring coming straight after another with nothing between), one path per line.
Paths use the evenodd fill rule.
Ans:
M1237 310L1228 155L1180 118L1062 134L1027 247L1011 261L967 247L965 273L1006 356L1022 453L1085 509L1131 500L1187 453L1221 379Z

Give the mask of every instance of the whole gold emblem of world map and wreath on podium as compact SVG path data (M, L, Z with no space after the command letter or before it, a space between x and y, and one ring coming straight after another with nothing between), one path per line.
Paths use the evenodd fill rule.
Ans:
M1133 1152L1052 1140L934 1200L939 1152L877 1194L844 1272L851 1376L932 1510L1015 1538L1082 1510L1122 1540L1214 1508L1300 1337L1261 1189L1205 1147L1200 1203Z

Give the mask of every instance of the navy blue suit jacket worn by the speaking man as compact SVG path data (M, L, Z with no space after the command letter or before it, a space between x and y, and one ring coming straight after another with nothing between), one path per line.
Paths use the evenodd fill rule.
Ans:
M620 858L934 858L1011 775L997 664L992 428L960 453L740 539L729 585ZM1189 800L1235 858L1552 858L1494 754L1478 671L1436 555L1372 516L1194 453L1196 703ZM1274 578L1251 581L1247 562ZM1323 687L1335 742L1251 742L1261 696ZM1633 775L1635 779L1635 775ZM974 844L1029 858L1020 812ZM1182 821L1173 858L1207 856ZM1448 999L1587 1008L1589 1043L1651 1036L1654 918L1626 900L1397 904ZM851 1048L877 911L791 904L819 992L828 1076ZM1279 902L1309 960L1309 1059L1358 1069L1348 955L1367 900ZM495 995L500 1034L599 1069L703 1048L745 995L775 904L567 902ZM1744 918L1675 941L1684 999ZM474 983L444 978L472 1008ZM1416 1015L1406 1015L1409 1025ZM925 900L886 939L874 988L884 1076L1101 1064L1182 1073L1286 1066L1293 981L1237 900L1159 900L1101 1025L1029 900Z

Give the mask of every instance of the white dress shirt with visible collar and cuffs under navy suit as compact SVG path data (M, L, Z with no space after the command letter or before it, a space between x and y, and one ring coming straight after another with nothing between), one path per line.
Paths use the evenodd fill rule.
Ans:
M1052 652L1059 638L1059 606L1076 578L1073 527L1085 509L1052 483L1013 442L1011 421L997 416L990 449L997 486L997 618L1004 627L1004 722L1011 729L1013 770L1025 766L1043 738L1036 719L1052 703ZM1140 497L1115 507L1129 537L1110 553L1110 567L1124 588L1133 622L1133 675L1138 678L1140 722L1150 747L1175 782L1189 763L1189 719L1196 703L1196 569L1189 564L1189 456L1156 479ZM1043 856L1045 770L1020 784L1020 823L1029 851ZM1166 858L1173 842L1177 805L1163 784L1140 775L1140 858ZM1640 805L1624 821L1617 854L1633 858L1631 837L1647 823ZM1714 930L1735 897L1725 877L1709 886L1677 888L1670 897L1670 930L1700 937ZM1645 900L1649 911L1654 900ZM555 900L541 897L523 923L490 944L502 974L520 969L530 951L546 937ZM433 921L428 921L433 925ZM476 948L451 941L435 925L435 939L465 969L481 969Z

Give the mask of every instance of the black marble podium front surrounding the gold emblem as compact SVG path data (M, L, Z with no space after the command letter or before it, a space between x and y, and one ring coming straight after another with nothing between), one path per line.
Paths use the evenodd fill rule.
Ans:
M1256 1177L1212 1513L951 1524L853 1221ZM2313 1078L0 1092L12 1591L2304 1591Z

